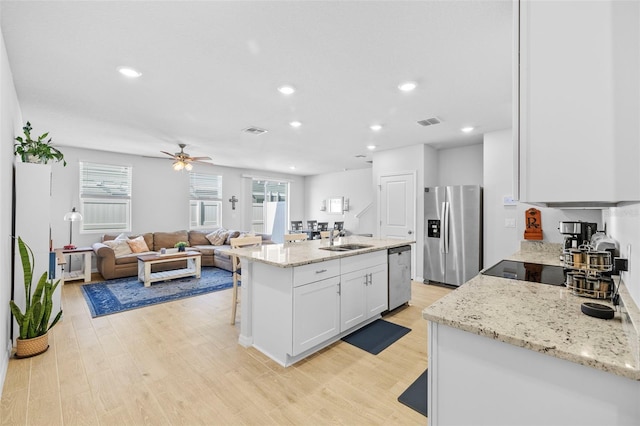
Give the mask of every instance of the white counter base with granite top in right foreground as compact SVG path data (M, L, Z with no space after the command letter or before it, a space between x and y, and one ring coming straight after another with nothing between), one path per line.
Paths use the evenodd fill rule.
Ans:
M524 247L510 260L559 264ZM565 287L478 275L427 307L429 424L640 424L640 312L620 295L602 320Z

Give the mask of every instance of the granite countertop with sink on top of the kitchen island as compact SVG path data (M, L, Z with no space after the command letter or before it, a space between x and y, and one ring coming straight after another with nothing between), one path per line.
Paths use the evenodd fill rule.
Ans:
M413 244L411 240L381 239L361 236L339 237L334 239L334 245L366 244L370 247L349 250L329 251L321 250L328 247L329 240L308 240L286 244L265 244L260 247L243 247L224 250L229 255L237 255L255 262L267 263L281 268L290 268L310 263L324 262L325 260L340 259L342 257L356 256L374 251L386 250L392 247Z

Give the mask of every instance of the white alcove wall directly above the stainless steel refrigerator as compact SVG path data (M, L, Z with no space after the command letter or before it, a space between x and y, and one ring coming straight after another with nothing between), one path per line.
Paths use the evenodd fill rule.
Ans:
M438 150L438 186L482 186L482 157L481 143Z

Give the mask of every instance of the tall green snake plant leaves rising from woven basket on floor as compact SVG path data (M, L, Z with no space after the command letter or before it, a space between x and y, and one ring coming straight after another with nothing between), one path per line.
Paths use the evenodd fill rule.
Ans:
M47 273L45 272L38 280L35 291L31 294L35 267L33 251L20 237L18 237L18 251L20 252L24 274L25 310L22 312L13 300L9 302L9 306L11 307L11 313L18 322L20 338L31 339L45 334L62 317L62 310L60 310L51 325L49 325L49 318L51 318L51 311L53 310L53 293L56 291L60 280L54 284L51 280L47 280Z

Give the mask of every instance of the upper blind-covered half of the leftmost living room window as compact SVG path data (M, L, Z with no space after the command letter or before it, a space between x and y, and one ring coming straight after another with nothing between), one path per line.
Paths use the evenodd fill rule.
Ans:
M80 162L80 198L131 199L131 167Z

